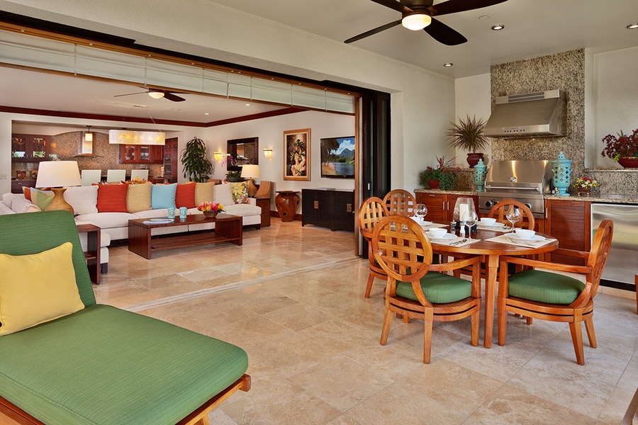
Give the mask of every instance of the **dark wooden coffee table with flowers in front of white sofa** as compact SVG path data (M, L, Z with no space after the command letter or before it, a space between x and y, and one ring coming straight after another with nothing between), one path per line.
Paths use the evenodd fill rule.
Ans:
M186 234L152 235L152 229L158 227L201 225L206 222L214 222L215 229ZM153 251L181 248L182 246L214 244L216 242L230 242L241 246L242 237L243 220L238 215L219 214L215 218L208 218L204 217L203 214L196 214L187 215L184 220L175 217L172 222L150 222L150 219L144 218L128 220L128 250L143 256L145 259L150 259Z

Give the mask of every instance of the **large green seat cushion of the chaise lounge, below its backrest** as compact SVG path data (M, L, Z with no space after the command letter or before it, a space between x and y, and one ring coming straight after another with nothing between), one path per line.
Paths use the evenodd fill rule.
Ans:
M91 305L0 338L0 392L48 425L175 424L247 370L242 348Z

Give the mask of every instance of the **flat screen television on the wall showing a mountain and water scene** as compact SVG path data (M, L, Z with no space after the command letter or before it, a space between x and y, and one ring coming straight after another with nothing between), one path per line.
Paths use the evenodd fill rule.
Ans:
M320 140L321 176L354 179L354 136Z

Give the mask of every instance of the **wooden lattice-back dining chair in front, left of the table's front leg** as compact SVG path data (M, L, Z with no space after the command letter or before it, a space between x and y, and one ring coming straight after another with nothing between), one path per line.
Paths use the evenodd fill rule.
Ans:
M381 345L388 342L393 315L424 321L423 363L430 363L432 322L471 317L471 344L478 345L481 314L480 256L432 264L432 246L423 228L408 217L381 218L372 234L374 258L388 275ZM472 280L448 271L472 266Z

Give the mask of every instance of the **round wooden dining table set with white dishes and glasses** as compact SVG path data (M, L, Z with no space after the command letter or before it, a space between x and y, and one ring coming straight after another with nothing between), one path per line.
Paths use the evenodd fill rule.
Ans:
M494 230L478 229L476 234L472 235L472 239L481 239L478 242L474 242L464 246L449 246L444 244L432 243L432 250L438 254L454 256L454 254L463 255L481 255L483 256L483 263L485 264L486 277L485 277L485 313L483 316L483 324L485 325L485 334L483 336L483 346L485 348L491 348L492 346L492 331L494 327L494 305L496 300L496 277L498 275L498 263L500 256L528 256L544 254L546 252L554 251L558 248L558 241L553 239L548 234L542 234L537 232L536 234L546 239L552 239L552 242L532 248L529 246L521 246L514 244L503 244L500 242L490 242L486 239L491 239L502 234L503 232L496 232Z

